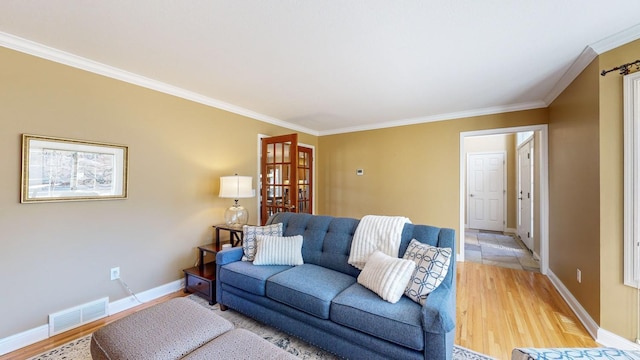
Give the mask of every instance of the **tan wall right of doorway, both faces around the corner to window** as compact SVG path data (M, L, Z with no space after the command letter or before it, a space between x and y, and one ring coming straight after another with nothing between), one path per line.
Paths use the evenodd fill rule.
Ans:
M600 55L550 106L550 268L601 328L637 334L637 291L623 284L622 76L635 41ZM582 270L582 283L576 280Z

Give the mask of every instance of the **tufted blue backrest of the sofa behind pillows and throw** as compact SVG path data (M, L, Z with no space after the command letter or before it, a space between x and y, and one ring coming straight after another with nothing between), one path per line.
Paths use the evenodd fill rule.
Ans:
M352 218L290 212L276 213L267 220L267 224L282 223L283 236L303 236L302 258L305 264L319 265L354 277L360 274L360 270L349 265L348 260L351 240L359 222ZM453 250L449 273L444 280L451 283L451 268L455 266L455 232L429 225L405 224L398 257L404 255L411 239Z

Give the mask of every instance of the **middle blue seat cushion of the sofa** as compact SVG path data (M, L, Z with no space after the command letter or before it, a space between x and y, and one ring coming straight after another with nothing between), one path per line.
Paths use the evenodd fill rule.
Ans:
M331 300L356 279L313 264L280 272L267 280L267 297L321 319L329 318Z

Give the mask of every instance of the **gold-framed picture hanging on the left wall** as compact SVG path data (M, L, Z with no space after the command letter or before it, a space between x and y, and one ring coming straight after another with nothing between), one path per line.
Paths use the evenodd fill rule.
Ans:
M21 202L127 198L123 145L22 135Z

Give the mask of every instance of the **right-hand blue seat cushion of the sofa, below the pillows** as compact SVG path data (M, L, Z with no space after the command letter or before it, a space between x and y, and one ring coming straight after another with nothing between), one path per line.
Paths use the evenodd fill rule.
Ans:
M360 284L353 284L331 302L331 321L421 351L422 306L406 296L391 304Z

